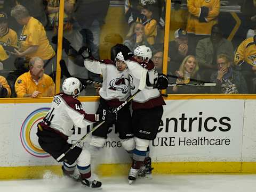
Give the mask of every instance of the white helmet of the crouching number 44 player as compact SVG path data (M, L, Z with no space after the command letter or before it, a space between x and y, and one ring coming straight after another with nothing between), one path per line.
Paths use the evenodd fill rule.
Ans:
M69 77L64 80L62 90L67 95L78 96L82 90L82 84L77 78ZM75 90L77 90L76 94Z

